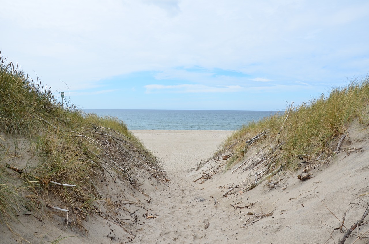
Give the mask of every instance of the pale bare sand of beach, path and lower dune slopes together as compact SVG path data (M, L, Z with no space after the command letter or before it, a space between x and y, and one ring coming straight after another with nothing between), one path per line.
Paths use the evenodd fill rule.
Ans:
M340 221L346 212L345 226L349 229L358 221L368 205L369 192L369 133L356 124L348 129L348 137L342 151L328 164L320 165L311 172L307 181L297 179L299 170L284 170L279 174L280 184L270 187L261 184L249 192L235 192L227 197L222 187L239 184L245 173L222 168L211 179L199 184L193 182L201 175L194 171L200 160L211 157L229 131L177 131L134 130L145 146L163 161L170 182L147 180L140 187L144 194L137 205L124 205L137 217L137 223L126 226L137 236L132 237L113 222L90 217L85 223L87 236L70 231L57 216L45 224L32 216L24 216L27 222L14 224L27 240L51 241L53 236L69 236L60 243L110 244L110 243L338 243L343 236ZM224 163L221 161L220 163ZM217 199L217 206L214 202ZM237 207L236 207L237 206ZM151 219L145 217L145 212ZM248 222L250 213L268 214L254 223ZM121 217L122 218L122 217ZM23 220L22 220L23 221ZM351 244L357 237L369 236L368 227L359 226L356 236L345 243ZM0 243L27 243L19 236L1 232ZM114 238L113 238L114 237ZM33 239L32 239L33 238ZM34 242L31 243L40 243ZM368 239L356 244L368 243Z

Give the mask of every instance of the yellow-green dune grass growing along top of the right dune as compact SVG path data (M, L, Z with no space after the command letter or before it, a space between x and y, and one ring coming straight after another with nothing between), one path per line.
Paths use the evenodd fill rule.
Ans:
M298 158L313 163L329 161L335 146L348 125L355 119L364 121L363 112L368 106L369 78L351 81L344 87L332 88L327 94L300 105L291 105L282 114L271 115L251 122L230 135L215 156L230 153L228 166L243 160L247 151L256 145L269 145L276 150L278 165L296 168ZM268 130L251 145L247 140ZM274 149L272 149L274 147ZM272 168L270 169L272 170Z

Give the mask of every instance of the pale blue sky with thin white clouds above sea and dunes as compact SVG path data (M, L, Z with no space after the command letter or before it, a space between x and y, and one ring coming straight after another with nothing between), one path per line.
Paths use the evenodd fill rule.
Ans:
M369 72L367 0L0 0L0 49L84 109L284 110Z

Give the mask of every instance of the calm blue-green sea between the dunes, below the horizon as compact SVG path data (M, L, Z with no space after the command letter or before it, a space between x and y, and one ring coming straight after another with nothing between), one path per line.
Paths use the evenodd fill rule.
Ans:
M237 130L278 111L84 109L123 120L130 130Z

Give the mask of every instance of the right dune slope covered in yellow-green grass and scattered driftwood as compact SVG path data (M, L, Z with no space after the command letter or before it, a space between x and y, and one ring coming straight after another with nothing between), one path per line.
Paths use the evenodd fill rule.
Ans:
M283 169L303 168L303 173L309 174L340 151L346 129L354 119L368 123L368 99L366 78L333 88L301 105L292 104L284 113L248 123L232 133L205 163L225 156L225 165L232 173L248 172L248 177L236 184L242 191L272 181L273 175Z

